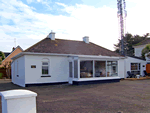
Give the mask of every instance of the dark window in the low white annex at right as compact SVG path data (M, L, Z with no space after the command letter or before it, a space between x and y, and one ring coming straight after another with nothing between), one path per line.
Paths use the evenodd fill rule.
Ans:
M131 73L134 75L140 74L140 63L131 63Z

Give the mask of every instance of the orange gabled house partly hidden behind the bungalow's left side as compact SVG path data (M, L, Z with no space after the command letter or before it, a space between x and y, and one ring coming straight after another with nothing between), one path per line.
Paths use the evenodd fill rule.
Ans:
M6 58L2 61L2 64L0 65L0 67L3 67L9 62L12 62L11 58L21 53L22 51L23 49L20 46L17 46L16 48L13 48L11 53L4 52Z

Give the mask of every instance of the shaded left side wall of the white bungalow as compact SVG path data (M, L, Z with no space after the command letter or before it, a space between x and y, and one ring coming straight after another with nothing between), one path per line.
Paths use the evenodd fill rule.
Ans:
M18 63L17 63L18 62ZM18 66L17 66L18 65ZM12 82L25 87L25 57L22 56L11 64ZM18 75L18 77L17 77Z

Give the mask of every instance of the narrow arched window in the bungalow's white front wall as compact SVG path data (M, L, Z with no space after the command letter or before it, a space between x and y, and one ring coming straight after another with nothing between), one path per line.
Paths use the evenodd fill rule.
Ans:
M48 75L49 74L49 60L43 59L42 61L42 75Z

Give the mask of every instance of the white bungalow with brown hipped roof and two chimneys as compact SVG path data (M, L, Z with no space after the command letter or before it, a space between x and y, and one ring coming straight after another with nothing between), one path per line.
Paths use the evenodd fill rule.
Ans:
M12 58L12 82L30 84L118 82L125 77L124 58L89 42L46 38Z

